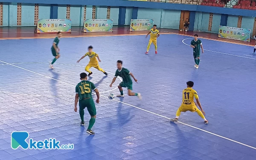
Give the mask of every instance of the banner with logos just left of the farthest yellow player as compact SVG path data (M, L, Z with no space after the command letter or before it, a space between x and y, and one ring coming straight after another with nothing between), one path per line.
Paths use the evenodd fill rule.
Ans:
M154 20L152 19L136 19L131 20L130 31L145 31L153 28Z

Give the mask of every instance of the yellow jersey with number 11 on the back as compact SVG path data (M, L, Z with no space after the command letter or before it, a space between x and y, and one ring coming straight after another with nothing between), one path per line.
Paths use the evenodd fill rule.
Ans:
M183 90L182 92L182 104L183 106L192 107L195 106L194 97L195 99L199 99L197 92L188 87Z

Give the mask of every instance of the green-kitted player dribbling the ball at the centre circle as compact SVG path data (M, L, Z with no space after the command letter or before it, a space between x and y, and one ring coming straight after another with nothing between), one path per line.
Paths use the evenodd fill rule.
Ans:
M110 87L112 87L112 84L116 81L116 77L120 76L122 77L123 81L119 84L118 88L121 94L117 95L117 97L124 97L124 93L123 93L123 89L122 87L127 87L128 89L128 95L129 96L138 96L139 99L142 99L141 94L140 93L133 93L132 92L132 80L131 77L134 79L134 81L137 82L137 79L135 79L134 75L127 70L126 68L122 67L122 61L118 60L117 61L117 70L116 70L116 74L115 77L113 78L111 84L109 85ZM138 83L138 82L137 82Z

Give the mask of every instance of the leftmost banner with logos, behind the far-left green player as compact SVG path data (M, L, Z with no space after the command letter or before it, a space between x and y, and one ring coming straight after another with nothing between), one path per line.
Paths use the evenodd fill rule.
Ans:
M71 20L40 19L37 23L37 33L71 32Z

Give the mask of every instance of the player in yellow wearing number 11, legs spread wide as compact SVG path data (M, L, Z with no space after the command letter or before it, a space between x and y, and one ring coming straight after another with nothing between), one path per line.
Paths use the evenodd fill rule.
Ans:
M192 89L193 86L194 86L194 82L192 82L192 81L187 82L187 88L184 89L182 92L182 96L183 96L182 104L180 105L180 108L176 112L176 118L171 119L172 122L178 121L180 112L190 111L190 112L198 113L198 115L201 116L202 119L204 119L204 124L208 124L208 120L205 119L205 117L204 117L204 115L205 115L204 110L202 109L201 103L199 102L198 93L194 89ZM194 102L194 97L195 97L195 100L196 100L198 106L200 107L201 111L196 107L195 102Z

